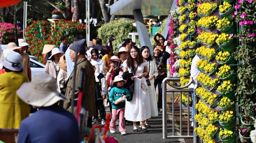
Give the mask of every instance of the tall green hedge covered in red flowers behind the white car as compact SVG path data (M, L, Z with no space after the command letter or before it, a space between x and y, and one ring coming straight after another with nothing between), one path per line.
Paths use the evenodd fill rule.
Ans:
M26 42L29 43L29 51L42 61L42 50L44 45L51 44L59 47L61 37L65 36L67 41L73 41L75 35L85 37L86 25L79 21L58 20L51 35L51 23L46 20L34 21L25 29Z

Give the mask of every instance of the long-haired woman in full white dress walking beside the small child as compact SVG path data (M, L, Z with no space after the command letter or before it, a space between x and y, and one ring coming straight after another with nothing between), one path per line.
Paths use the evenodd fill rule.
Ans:
M138 131L137 121L141 121L143 132L147 132L145 120L151 118L148 85L145 81L145 76L148 75L147 65L148 62L142 58L139 48L132 46L123 66L124 72L134 73L134 76L131 76L134 81L133 98L125 103L125 119L133 121L134 132Z

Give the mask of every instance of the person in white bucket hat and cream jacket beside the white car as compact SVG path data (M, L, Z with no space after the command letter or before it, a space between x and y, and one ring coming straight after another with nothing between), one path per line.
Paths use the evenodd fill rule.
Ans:
M55 79L57 79L58 72L60 70L60 58L64 54L63 51L61 51L59 48L53 48L52 49L52 55L49 57L49 60L47 61L44 72L51 75Z

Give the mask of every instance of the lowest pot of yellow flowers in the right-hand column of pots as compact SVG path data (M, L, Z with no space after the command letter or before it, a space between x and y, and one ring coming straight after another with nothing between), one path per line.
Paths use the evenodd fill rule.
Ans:
M232 130L220 128L219 138L222 142L236 143L236 135Z

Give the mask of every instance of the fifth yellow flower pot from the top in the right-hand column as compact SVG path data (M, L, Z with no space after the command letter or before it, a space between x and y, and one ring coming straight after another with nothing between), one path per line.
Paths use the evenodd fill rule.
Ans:
M234 70L227 64L222 65L216 75L223 81L230 80L231 83L236 82Z

